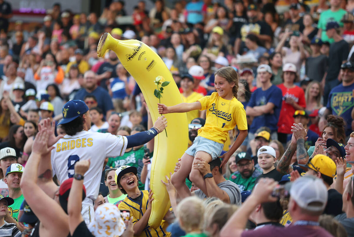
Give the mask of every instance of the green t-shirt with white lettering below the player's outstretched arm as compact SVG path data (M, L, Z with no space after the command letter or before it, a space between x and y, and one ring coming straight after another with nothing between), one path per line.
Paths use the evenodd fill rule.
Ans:
M134 166L138 169L139 178L139 190L144 190L145 185L140 181L141 170L143 169L143 157L144 157L144 146L138 150L131 149L125 152L122 156L110 157L108 158L107 166L113 168L119 168L121 166ZM150 156L152 157L152 155Z

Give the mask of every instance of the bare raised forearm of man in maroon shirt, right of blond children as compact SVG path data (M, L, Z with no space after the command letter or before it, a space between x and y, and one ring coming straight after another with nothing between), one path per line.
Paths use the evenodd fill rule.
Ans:
M259 203L257 202L257 200L251 194L241 205L241 207L226 222L226 224L220 231L220 236L241 236L241 233L245 230L249 216L255 210L258 204Z

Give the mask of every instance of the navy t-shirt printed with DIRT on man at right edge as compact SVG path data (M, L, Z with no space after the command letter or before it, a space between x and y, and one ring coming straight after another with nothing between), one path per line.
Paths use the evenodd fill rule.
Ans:
M331 90L327 102L327 109L331 110L333 115L341 116L346 121L347 136L352 132L353 89L354 83L349 86L343 86L341 83Z

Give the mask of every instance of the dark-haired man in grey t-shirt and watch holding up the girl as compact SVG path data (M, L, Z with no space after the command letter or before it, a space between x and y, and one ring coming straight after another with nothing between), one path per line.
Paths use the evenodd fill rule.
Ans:
M205 194L201 189L194 191L194 195L205 199L207 197L217 197L225 203L241 205L241 192L239 186L230 180L226 180L222 175L220 168L221 160L215 160L206 163L199 160L198 164L194 163L193 168L198 169L205 180L205 187L199 187L206 190Z

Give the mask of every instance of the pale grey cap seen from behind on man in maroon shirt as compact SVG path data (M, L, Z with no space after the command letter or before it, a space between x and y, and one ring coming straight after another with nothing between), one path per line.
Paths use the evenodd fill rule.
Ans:
M321 179L302 176L291 183L290 196L301 208L320 212L326 207L328 192Z

